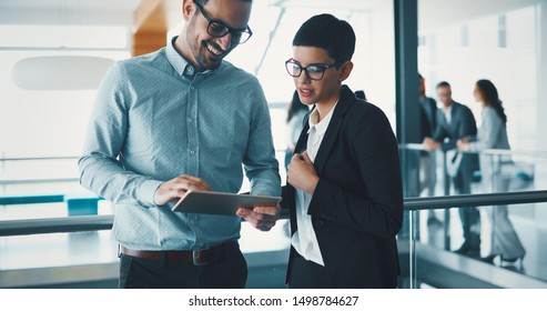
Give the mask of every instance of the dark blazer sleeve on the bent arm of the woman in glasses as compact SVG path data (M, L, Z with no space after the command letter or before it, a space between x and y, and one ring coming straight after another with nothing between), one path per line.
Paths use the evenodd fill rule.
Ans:
M375 113L364 120L352 143L365 189L350 193L338 184L320 177L308 214L341 225L393 238L403 221L403 189L397 142L387 118ZM350 148L347 150L351 150Z

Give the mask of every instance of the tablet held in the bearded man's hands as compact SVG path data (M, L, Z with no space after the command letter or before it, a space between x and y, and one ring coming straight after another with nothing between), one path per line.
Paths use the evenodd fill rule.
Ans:
M281 197L189 191L172 210L183 213L235 215L239 207L275 207L281 200Z

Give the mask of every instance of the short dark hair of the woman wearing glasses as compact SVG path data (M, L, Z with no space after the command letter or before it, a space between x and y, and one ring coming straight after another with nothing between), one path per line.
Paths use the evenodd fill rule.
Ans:
M343 63L352 60L355 32L350 23L331 14L314 16L301 26L294 36L293 47L321 48L336 63Z

